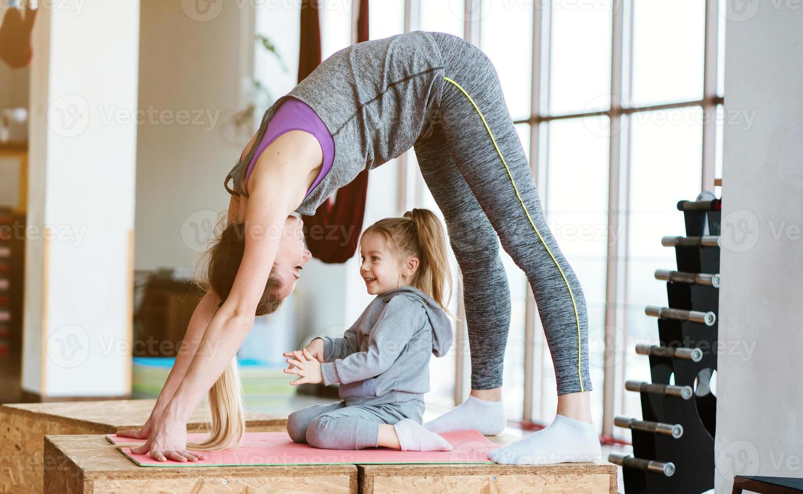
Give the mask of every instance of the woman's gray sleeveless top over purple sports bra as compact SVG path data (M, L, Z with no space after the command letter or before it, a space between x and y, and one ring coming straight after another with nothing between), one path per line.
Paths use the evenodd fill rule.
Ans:
M332 134L332 169L300 204L297 213L314 214L338 188L410 149L434 122L443 90L444 67L432 34L413 31L357 43L337 51L263 116L292 96L316 111ZM255 146L259 144L256 143ZM226 176L241 188L249 158Z

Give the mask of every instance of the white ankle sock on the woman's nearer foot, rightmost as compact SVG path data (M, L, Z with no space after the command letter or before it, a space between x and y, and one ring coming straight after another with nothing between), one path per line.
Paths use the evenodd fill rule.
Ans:
M548 427L488 452L498 464L538 465L598 460L601 447L593 423L555 415Z

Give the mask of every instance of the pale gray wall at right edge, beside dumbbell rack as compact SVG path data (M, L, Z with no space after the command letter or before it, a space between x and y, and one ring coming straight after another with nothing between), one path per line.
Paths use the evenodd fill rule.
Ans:
M728 0L716 492L803 476L803 6Z

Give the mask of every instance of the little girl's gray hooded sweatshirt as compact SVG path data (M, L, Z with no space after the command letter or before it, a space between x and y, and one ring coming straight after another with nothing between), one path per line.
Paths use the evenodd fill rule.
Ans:
M422 400L430 354L442 357L452 326L438 302L413 286L377 295L343 338L324 340L324 384L340 383L346 405Z

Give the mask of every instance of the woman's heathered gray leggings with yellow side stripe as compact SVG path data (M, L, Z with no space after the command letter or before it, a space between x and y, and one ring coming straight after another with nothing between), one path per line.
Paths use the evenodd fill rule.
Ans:
M590 391L583 291L544 219L495 68L463 38L432 34L453 82L444 80L432 132L414 149L463 273L471 388L502 386L511 303L498 235L532 286L558 394Z

